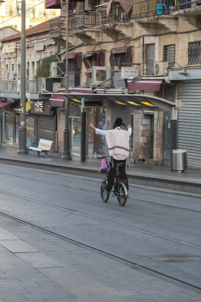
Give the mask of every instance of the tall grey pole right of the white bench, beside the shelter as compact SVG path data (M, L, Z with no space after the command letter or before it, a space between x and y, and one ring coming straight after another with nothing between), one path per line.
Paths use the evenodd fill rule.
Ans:
M65 72L65 93L68 93L69 87L69 74L68 74L68 5L69 2L66 0L66 72ZM65 110L64 110L64 129L63 129L63 152L61 160L71 161L70 157L70 146L69 146L69 125L68 125L68 114L69 114L69 100L65 97Z

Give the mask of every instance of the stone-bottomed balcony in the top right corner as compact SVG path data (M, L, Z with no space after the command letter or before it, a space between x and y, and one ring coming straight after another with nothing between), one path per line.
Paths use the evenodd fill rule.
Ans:
M175 6L174 16L181 16L194 28L201 28L201 1L200 0L178 0Z

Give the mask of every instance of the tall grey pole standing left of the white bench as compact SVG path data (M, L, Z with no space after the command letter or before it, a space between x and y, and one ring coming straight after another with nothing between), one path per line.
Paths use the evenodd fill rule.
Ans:
M22 0L20 127L18 154L28 154L26 127L26 3Z

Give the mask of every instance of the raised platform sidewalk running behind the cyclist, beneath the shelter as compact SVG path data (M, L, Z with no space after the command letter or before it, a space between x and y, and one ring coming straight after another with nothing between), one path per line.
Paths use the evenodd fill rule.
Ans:
M72 161L60 158L61 154L58 153L49 153L49 157L45 158L43 154L38 157L36 152L30 150L28 155L18 155L15 147L0 148L0 163L23 164L36 169L103 178L103 175L98 174L100 161L97 159L87 159L85 163L81 163L80 158L75 156ZM170 172L166 166L131 164L130 169L127 168L127 174L133 184L201 194L201 170L198 169L177 173Z

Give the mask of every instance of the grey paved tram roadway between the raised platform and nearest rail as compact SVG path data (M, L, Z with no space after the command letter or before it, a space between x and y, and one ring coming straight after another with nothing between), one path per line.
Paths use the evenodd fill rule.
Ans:
M100 181L96 179L1 165L0 211L153 271L200 286L199 198L175 191L130 186L130 198L126 206L121 207L112 197L108 203L103 203L99 190ZM173 296L165 293L158 298L157 291L149 288L148 292L141 294L144 297L149 294L147 301L160 302L163 299L174 302L179 298L190 301L193 296L192 293L186 297L180 291L173 292ZM201 301L201 291L195 297ZM107 301L108 297L102 296L100 300ZM90 301L87 295L84 301Z

